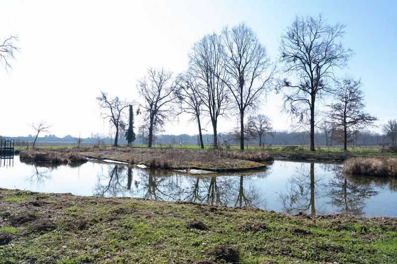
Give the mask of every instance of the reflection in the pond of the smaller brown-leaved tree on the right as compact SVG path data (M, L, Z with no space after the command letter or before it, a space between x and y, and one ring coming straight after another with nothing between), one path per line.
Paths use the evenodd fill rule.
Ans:
M332 206L337 213L346 215L362 215L366 206L366 200L378 192L371 184L362 184L365 177L349 177L342 173L342 165L330 165L329 170L334 177L329 180L329 196ZM361 179L361 180L360 180Z

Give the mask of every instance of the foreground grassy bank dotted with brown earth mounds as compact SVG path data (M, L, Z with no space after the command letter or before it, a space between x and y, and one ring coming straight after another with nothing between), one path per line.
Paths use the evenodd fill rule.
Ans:
M396 259L395 218L291 216L0 189L0 263L393 263Z

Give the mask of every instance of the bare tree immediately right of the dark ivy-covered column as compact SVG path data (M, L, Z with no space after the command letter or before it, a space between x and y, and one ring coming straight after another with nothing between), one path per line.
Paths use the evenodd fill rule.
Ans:
M172 72L161 68L147 69L147 76L138 81L139 95L144 98L144 104L140 105L146 110L148 116L148 147L153 144L153 131L155 127L162 127L174 112L172 102L176 100L174 96L175 85L172 81Z

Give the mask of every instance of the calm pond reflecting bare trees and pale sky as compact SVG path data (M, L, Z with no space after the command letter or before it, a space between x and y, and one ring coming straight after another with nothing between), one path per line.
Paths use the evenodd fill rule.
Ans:
M0 159L0 188L125 196L313 215L397 216L397 179L343 175L341 164L276 160L263 171L187 174L89 161L78 166Z

